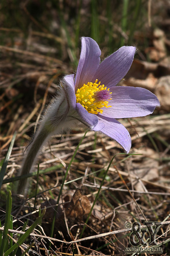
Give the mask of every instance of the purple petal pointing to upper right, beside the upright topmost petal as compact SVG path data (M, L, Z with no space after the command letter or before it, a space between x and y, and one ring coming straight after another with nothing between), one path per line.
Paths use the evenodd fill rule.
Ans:
M123 46L103 60L97 69L94 80L98 79L107 87L115 86L128 72L136 47Z

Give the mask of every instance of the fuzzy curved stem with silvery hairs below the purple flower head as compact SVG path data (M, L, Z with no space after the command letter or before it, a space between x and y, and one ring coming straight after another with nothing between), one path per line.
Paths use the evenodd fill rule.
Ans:
M42 146L52 134L58 134L66 131L75 123L74 118L68 117L70 111L70 102L67 90L64 88L60 91L60 97L52 100L51 104L43 116L43 121L31 143L28 152L24 158L20 175L25 175L33 170L36 158ZM74 114L75 110L71 112ZM20 178L17 186L19 194L26 195L28 188L27 178Z

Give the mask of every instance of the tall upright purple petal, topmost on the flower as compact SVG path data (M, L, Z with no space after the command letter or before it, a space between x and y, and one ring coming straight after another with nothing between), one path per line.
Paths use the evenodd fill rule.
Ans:
M92 81L94 73L99 67L101 51L99 45L90 37L82 37L81 39L81 54L78 63L75 91L81 88L83 84Z

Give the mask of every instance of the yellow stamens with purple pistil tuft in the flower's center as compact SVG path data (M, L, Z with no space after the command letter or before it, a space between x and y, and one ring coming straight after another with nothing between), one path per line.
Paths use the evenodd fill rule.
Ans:
M111 100L109 88L107 89L104 84L97 84L98 79L95 83L88 82L83 84L80 89L77 89L76 92L76 102L80 103L83 108L85 108L89 113L98 114L103 113L103 110L100 108L103 107L112 107L108 106L108 100Z

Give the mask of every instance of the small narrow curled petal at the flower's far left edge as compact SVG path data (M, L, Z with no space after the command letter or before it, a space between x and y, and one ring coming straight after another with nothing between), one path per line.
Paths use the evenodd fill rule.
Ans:
M63 90L65 91L66 97L68 97L70 104L73 108L76 107L76 95L74 92L74 74L64 76L62 79L64 84ZM61 83L62 85L62 83Z

